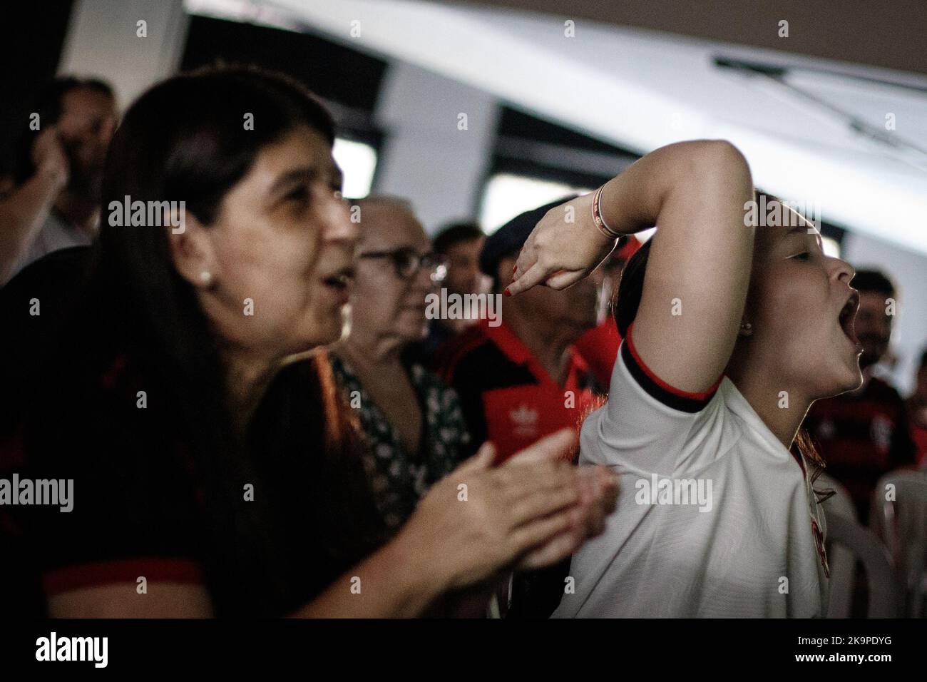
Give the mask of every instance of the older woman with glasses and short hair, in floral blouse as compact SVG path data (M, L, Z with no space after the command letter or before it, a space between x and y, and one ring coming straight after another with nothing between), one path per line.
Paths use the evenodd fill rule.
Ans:
M427 331L425 296L447 273L402 199L356 203L361 241L351 292L351 329L337 345L335 374L360 413L366 470L390 531L472 453L456 394L404 353Z

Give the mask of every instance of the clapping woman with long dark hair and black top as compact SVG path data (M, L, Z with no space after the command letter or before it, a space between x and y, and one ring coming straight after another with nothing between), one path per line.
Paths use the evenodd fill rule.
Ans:
M615 483L557 464L561 433L512 466L485 446L380 547L331 377L284 368L342 334L357 227L333 141L308 91L241 68L126 113L86 303L3 445L72 481L70 511L14 520L51 615L416 615L598 530Z

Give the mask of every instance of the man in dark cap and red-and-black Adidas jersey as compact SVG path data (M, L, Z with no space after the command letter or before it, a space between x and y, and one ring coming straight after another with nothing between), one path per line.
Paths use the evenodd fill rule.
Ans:
M558 199L524 212L489 236L480 269L493 292L512 281L518 251ZM438 349L438 372L459 394L473 443L496 445L500 460L564 427L578 428L603 393L572 344L596 325L598 288L591 277L563 291L535 287L502 298L502 320L481 319ZM509 617L546 618L564 589L569 562L516 578Z

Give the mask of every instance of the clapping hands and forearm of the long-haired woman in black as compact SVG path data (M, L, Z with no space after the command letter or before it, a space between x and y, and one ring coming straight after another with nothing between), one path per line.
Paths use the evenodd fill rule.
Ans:
M452 590L488 587L508 569L565 559L601 532L617 492L612 474L565 461L575 445L574 431L558 431L498 468L494 448L483 445L428 491L392 542L293 615L419 616ZM363 591L355 593L349 585L361 579ZM470 614L483 606L476 602Z

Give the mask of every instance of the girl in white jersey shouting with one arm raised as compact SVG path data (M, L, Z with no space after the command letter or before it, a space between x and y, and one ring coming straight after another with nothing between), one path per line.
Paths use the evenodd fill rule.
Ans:
M787 226L754 226L727 142L657 149L597 194L545 215L508 290L563 289L657 225L618 294L609 402L582 428L580 463L621 476L619 505L554 616L823 616L826 527L790 450L812 402L862 380L853 269L781 205L760 225Z

